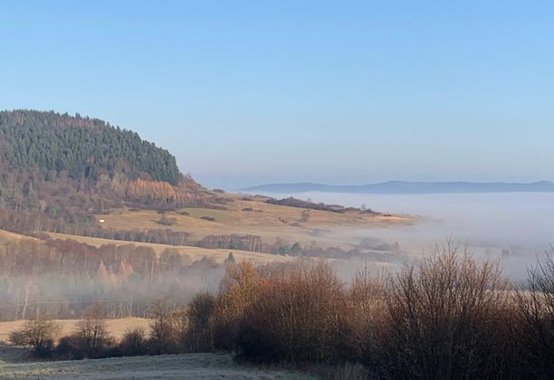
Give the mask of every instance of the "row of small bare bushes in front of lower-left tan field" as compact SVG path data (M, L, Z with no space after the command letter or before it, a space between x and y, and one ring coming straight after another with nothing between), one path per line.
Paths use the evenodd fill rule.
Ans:
M117 341L107 327L107 311L100 303L89 306L75 331L61 336L60 324L37 316L10 334L17 346L31 347L40 357L82 359L109 356L163 355L213 350L210 330L215 298L199 293L178 309L168 299L156 299L148 308L149 331L130 328Z

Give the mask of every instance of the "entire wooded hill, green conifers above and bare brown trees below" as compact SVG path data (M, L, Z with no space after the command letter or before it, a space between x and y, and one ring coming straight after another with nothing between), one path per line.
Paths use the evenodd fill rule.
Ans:
M93 213L205 201L176 159L130 130L53 111L0 111L0 228L78 233Z

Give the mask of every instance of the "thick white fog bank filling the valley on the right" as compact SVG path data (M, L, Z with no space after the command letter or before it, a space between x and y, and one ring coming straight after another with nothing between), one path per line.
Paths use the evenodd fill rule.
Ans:
M554 242L554 194L362 195L339 193L267 194L343 204L390 214L421 216L404 227L371 228L359 237L399 242L408 252L430 252L452 239L475 255L501 259L504 271L521 277Z

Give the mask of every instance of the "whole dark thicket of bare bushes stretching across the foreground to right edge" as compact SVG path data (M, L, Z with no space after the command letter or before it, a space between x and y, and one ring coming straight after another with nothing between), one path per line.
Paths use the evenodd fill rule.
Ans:
M184 310L158 300L150 317L148 337L133 330L117 345L106 338L101 355L225 351L254 363L361 365L370 378L554 374L549 255L521 289L502 277L498 263L449 245L394 275L362 270L348 285L325 261L230 263L217 295L198 294ZM65 340L58 353L63 343L98 355L85 334Z

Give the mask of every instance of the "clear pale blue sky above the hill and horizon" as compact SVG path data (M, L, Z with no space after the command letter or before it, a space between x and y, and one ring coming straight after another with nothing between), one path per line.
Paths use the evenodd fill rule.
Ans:
M0 109L80 112L209 186L554 179L550 1L3 2Z

